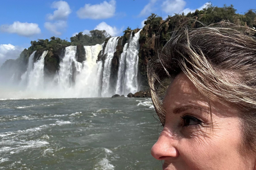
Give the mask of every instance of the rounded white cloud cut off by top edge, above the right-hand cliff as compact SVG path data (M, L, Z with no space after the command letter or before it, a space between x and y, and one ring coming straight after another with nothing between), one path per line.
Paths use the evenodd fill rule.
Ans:
M166 0L162 4L162 9L169 15L173 15L174 13L182 13L186 2L184 0Z

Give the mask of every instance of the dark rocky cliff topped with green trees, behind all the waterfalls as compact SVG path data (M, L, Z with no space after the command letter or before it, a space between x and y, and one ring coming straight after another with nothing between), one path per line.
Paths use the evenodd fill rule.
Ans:
M203 27L203 25L209 25L212 23L224 23L229 22L236 24L238 26L245 27L256 27L256 13L253 10L249 10L245 15L237 14L236 10L233 6L224 6L222 8L208 6L203 10L196 10L194 13L189 13L187 15L174 15L172 18L165 22L162 20L162 17L159 17L155 14L152 14L145 21L145 26L143 30L140 32L139 38L139 62L138 62L138 79L140 81L140 90L148 90L147 85L147 64L152 56L157 55L157 51L155 49L155 40L154 37L156 35L160 36L159 41L160 45L163 46L171 36L171 32L179 27L186 25L190 28L199 28ZM163 24L164 23L164 24ZM161 26L161 28L160 28ZM111 62L111 76L110 82L115 86L117 82L118 69L119 69L119 61L120 56L123 52L123 48L126 42L129 42L129 38L132 34L134 36L140 29L131 30L131 28L127 28L124 31L124 35L119 38L118 44L116 46L116 51L114 52L114 56ZM34 61L37 61L39 57L42 55L44 50L48 50L47 55L44 60L44 72L46 75L54 75L59 70L59 64L63 58L65 47L69 45L76 45L76 59L78 62L83 62L85 58L85 49L84 45L93 45L95 43L103 43L103 50L98 55L98 61L105 61L106 56L104 54L104 50L109 38L106 38L108 35L104 31L95 30L92 31L91 37L86 35L82 35L82 33L76 35L71 38L71 42L67 42L65 40L61 40L59 38L51 37L50 41L46 40L38 40L31 42L31 46L28 49L24 49L24 51L20 54L20 57L16 60L7 60L0 68L0 70L4 70L6 75L13 75L13 71L7 70L16 70L15 76L18 80L20 80L21 75L26 71L28 58L30 54L36 50L34 55ZM256 36L256 33L253 35L251 32L248 34L252 36ZM95 42L93 42L95 40ZM97 40L97 41L96 41ZM104 41L105 40L105 41ZM12 68L12 69L10 69ZM3 76L3 75L2 75ZM7 76L7 77L8 77Z

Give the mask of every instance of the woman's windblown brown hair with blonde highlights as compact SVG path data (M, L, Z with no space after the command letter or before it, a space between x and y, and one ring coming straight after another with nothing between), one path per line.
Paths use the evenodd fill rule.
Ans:
M244 34L250 32L253 29L226 28L223 24L172 32L171 39L147 66L152 102L162 125L165 111L159 91L166 79L184 72L209 101L239 109L243 144L255 151L256 39Z

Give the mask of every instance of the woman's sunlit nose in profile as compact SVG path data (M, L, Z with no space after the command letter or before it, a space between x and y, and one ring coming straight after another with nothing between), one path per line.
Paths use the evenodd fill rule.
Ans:
M175 139L165 133L161 133L157 142L151 148L151 155L158 160L177 158L179 151L175 147Z

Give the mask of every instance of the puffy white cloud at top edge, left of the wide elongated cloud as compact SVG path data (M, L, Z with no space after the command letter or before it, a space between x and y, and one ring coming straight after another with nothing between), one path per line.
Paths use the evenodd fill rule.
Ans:
M66 1L54 1L51 8L57 9L53 14L48 14L48 20L66 20L71 9Z

